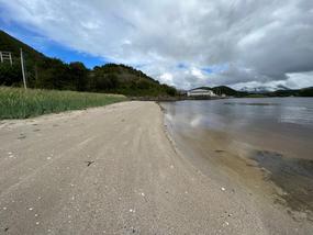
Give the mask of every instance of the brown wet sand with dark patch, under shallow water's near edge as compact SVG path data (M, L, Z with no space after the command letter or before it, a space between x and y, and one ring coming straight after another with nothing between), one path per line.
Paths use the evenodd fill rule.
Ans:
M289 158L261 148L256 150L250 145L236 143L225 133L213 131L171 135L182 155L204 174L213 178L226 175L266 199L266 203L283 205L282 210L293 220L313 222L312 160ZM214 172L216 169L219 174Z

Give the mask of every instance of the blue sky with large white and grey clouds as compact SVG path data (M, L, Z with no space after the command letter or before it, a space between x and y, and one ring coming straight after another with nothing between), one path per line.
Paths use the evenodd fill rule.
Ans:
M0 29L65 61L190 89L313 86L312 0L0 0Z

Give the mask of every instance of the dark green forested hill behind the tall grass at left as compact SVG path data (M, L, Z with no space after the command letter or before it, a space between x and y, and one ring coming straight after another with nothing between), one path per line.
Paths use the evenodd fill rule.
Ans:
M0 31L0 51L11 52L13 66L0 63L0 86L21 86L20 48L25 57L27 86L31 88L114 92L126 96L175 96L176 89L130 66L107 64L88 69L82 63L66 64L49 58Z

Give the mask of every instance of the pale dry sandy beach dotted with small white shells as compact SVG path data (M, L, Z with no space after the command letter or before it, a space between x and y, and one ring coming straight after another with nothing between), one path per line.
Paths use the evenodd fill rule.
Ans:
M0 234L312 233L261 176L191 157L155 102L2 121Z

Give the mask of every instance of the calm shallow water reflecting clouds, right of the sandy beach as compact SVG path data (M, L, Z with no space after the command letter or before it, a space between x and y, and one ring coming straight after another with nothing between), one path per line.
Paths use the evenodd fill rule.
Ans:
M161 107L181 146L192 139L195 155L201 149L208 157L234 145L248 146L245 157L266 169L265 179L283 190L281 197L289 208L313 210L312 98L179 101Z

